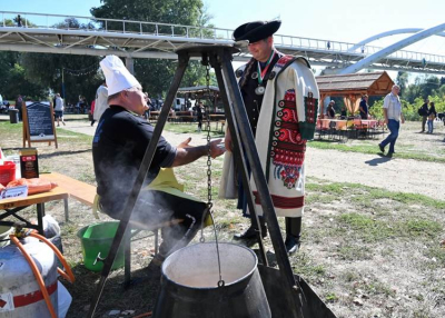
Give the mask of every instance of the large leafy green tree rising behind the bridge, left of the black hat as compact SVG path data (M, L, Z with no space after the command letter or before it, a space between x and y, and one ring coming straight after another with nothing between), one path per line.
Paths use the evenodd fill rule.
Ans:
M93 17L196 27L207 26L211 19L201 0L102 0L101 2L103 3L101 7L91 9ZM108 22L107 28L121 30L123 26L120 22ZM140 31L140 26L137 23L126 23L125 28ZM144 27L142 31L155 31L155 29L149 30L148 28L150 27ZM170 27L159 27L158 32L170 34L171 29ZM176 36L186 36L187 29L175 29L175 33ZM135 59L135 76L149 96L165 96L176 67L177 62L174 60ZM196 86L202 82L205 82L205 68L197 61L190 61L181 86Z

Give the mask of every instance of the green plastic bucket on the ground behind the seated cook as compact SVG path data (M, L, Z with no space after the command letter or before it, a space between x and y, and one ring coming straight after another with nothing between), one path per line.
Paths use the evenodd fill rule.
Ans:
M81 228L77 232L82 244L83 265L86 268L92 271L102 270L102 261L97 261L96 265L93 262L99 252L101 258L108 256L118 226L119 222L101 222ZM121 245L111 269L123 267L123 245Z

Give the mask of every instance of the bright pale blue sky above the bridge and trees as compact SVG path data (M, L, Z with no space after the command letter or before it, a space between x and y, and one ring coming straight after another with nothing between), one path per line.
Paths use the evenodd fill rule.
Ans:
M445 0L204 0L204 3L217 28L235 29L248 21L280 19L278 34L350 43L394 29L445 23ZM82 17L89 17L90 8L99 6L100 0L0 0L0 11ZM393 36L370 44L385 47L408 36ZM445 56L445 37L431 37L405 50Z

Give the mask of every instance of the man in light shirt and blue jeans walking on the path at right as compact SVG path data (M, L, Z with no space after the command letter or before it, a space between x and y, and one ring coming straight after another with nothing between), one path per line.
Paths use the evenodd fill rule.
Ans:
M387 157L393 157L394 146L396 145L396 140L398 138L398 130L400 129L402 123L405 122L405 117L402 112L402 102L398 97L398 92L400 88L398 86L393 86L390 92L385 97L383 101L383 113L385 116L385 123L388 127L390 133L384 141L378 143L378 148L383 153L385 153L385 147L389 143L389 150L386 155Z

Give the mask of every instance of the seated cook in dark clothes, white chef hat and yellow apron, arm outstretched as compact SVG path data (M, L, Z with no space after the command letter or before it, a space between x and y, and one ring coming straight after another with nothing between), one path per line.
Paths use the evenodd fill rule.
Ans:
M110 107L101 116L92 140L98 207L110 217L121 219L155 129L142 118L148 109L148 97L122 61L116 56L108 56L100 66L108 85ZM209 152L216 158L225 151L219 147L220 139L199 147L191 147L190 140L188 138L174 147L162 137L159 139L131 213L130 223L142 228L182 220L162 229L158 262L186 246L201 228L208 213L207 205L181 192L172 171L162 168L187 165Z

